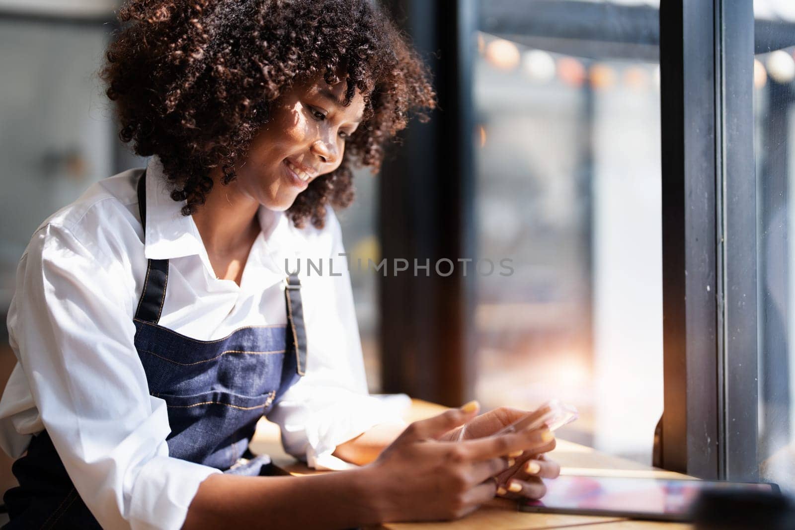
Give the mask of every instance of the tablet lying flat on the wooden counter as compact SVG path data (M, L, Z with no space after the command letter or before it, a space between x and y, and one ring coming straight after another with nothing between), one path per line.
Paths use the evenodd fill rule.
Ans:
M705 489L778 493L775 484L670 478L561 475L544 483L546 495L539 501L520 501L520 510L686 521L693 501Z

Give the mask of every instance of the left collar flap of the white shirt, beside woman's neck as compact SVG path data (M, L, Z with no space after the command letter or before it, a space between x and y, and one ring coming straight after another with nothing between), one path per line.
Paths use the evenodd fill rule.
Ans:
M146 259L201 255L204 243L191 215L182 215L185 201L171 198L163 166L157 157L146 164Z

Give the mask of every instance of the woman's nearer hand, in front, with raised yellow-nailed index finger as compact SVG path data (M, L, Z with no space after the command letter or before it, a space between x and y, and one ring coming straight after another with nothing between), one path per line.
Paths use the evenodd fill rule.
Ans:
M541 452L549 446L541 431L462 442L442 441L452 428L471 421L469 412L453 408L429 420L417 421L363 468L367 493L379 519L456 519L489 501L497 485L491 479L508 469L506 458L516 451Z

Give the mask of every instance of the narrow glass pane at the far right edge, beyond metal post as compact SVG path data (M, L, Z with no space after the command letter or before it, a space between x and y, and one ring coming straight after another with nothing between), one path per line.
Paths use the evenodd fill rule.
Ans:
M795 149L795 5L754 0L754 147L757 174L759 451L762 480L795 489L795 282L793 248ZM781 40L781 37L788 40Z

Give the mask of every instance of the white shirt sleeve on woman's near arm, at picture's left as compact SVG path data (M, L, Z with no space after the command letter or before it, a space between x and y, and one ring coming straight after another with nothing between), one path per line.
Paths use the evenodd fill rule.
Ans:
M11 342L41 422L103 528L180 528L200 482L219 471L169 457L169 418L134 347L125 277L72 231L44 226L17 270Z

